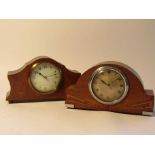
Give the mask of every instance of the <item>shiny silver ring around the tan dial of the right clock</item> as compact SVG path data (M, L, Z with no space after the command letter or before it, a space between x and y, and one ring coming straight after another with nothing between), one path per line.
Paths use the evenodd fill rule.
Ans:
M95 78L98 74L103 73L105 70L113 70L113 71L117 72L117 73L123 78L124 83L125 83L125 89L124 89L123 95L122 95L119 99L116 99L116 100L113 100L113 101L109 101L109 102L103 101L103 100L101 100L100 98L98 98L98 97L95 95L95 93L93 92L93 89L92 89L92 83L93 83L94 78ZM127 93L128 93L128 90L129 90L129 83L128 83L128 79L127 79L126 75L125 75L120 69L118 69L118 68L116 68L116 67L112 67L112 66L102 66L102 67L99 67L98 69L96 69L96 70L93 72L93 74L92 74L92 76L91 76L91 78L90 78L90 81L89 81L89 83L88 83L88 87L89 87L89 91L90 91L92 97L93 97L95 100L97 100L98 102L103 103L103 104L113 105L113 104L120 103L120 102L126 97L126 95L127 95Z

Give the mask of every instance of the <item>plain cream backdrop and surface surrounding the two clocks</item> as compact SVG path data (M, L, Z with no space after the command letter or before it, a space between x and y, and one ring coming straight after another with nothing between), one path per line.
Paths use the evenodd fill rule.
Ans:
M155 90L154 42L154 20L0 20L0 134L154 134L155 117L69 110L63 101L5 101L7 72L37 56L81 73L99 62L123 62Z

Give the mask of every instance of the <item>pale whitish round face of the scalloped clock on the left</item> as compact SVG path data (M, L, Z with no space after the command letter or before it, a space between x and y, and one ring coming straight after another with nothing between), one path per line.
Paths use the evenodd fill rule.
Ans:
M35 64L30 73L31 85L41 93L55 92L61 78L60 69L51 63Z

